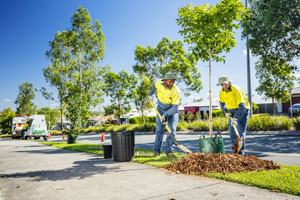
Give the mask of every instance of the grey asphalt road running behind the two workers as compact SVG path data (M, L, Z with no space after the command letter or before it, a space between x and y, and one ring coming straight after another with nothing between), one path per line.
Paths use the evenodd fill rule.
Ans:
M193 152L198 152L200 135L177 135L178 142ZM136 147L152 149L155 135L135 135ZM164 137L165 141L166 135ZM228 135L223 136L226 153L232 153ZM61 141L62 136L52 136L51 141ZM78 142L101 144L101 134L80 135ZM110 134L105 134L105 143ZM176 149L180 151L179 149ZM246 154L255 155L278 164L300 166L300 136L252 135L246 137Z

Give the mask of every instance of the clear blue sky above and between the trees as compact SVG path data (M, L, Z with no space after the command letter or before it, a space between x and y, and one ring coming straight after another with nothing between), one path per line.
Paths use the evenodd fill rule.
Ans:
M49 65L45 52L49 41L57 31L71 26L70 20L79 5L87 8L92 20L99 20L105 35L105 60L114 72L125 69L132 72L135 64L136 45L156 46L164 37L171 40L183 40L176 24L178 8L193 3L217 3L218 0L1 0L0 12L0 110L8 106L16 108L14 101L18 87L24 82L32 82L34 87L47 87L56 94L56 89L46 83L43 68ZM237 45L226 55L226 63L212 65L212 91L217 97L218 77L226 74L235 84L247 92L247 71L245 41L240 31L236 35ZM258 83L255 79L254 63L251 57L252 94ZM193 98L208 97L208 63L198 62L203 89L192 97L182 96L184 103ZM107 101L106 101L107 102ZM36 93L34 103L38 107L48 106L43 97ZM51 107L55 107L52 102ZM100 105L101 107L101 105Z

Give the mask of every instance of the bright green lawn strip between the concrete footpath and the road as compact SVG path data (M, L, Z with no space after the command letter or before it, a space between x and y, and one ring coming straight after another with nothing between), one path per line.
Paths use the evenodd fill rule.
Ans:
M41 144L72 151L103 155L102 146L98 144L67 144L66 142L41 142ZM176 162L186 154L176 152L176 159L168 158L164 152L156 158L152 155L153 150L135 148L135 157L132 159L132 162L164 168L166 164ZM280 165L280 167L281 169L269 171L230 174L208 173L204 176L300 196L300 167L288 165Z

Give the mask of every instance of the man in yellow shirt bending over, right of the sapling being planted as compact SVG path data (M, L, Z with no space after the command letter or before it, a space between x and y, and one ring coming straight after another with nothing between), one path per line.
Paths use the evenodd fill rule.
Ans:
M250 105L248 99L240 87L232 85L232 81L228 76L221 76L219 78L217 86L222 86L222 89L219 93L219 101L222 112L226 117L229 116L229 113L232 116L232 118L230 118L228 122L232 145L236 141L236 134L232 127L232 125L235 125L244 141L243 146L238 153L244 155L247 122L250 113Z

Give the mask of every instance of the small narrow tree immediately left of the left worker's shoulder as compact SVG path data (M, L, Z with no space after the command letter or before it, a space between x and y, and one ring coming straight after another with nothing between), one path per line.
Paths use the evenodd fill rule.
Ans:
M133 95L136 109L138 111L141 111L144 124L145 124L144 111L147 108L151 108L149 102L147 102L147 97L149 95L149 91L151 87L152 84L150 79L148 77L142 77Z

